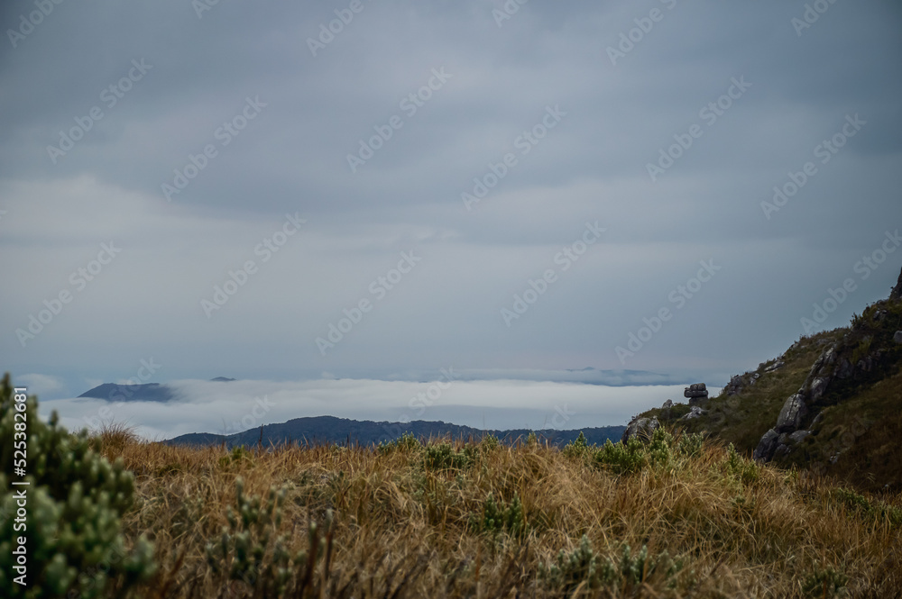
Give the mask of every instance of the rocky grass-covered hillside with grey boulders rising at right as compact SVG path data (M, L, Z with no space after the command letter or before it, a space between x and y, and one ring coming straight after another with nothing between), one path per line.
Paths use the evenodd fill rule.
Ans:
M650 410L746 455L815 469L866 490L902 489L902 275L849 327L803 337L721 395Z

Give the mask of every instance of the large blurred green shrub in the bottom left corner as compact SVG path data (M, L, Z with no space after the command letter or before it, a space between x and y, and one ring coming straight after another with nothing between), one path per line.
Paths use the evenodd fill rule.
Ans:
M91 448L87 431L69 434L56 413L38 419L37 399L16 401L7 374L0 383L0 596L120 597L147 580L155 569L153 549L139 540L129 553L120 533L120 517L133 502L134 479L122 459L113 465ZM18 406L23 405L23 409ZM23 424L27 430L23 431ZM14 442L27 433L27 476L14 473ZM21 449L20 449L21 450ZM30 483L13 486L13 481ZM18 498L25 490L24 521ZM24 524L25 530L21 529ZM19 576L14 540L24 537L28 551L27 586Z

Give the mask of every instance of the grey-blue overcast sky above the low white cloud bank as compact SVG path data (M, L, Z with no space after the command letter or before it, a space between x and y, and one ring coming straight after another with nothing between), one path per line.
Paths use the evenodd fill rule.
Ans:
M0 9L0 354L49 398L723 386L902 266L897 2L40 4Z

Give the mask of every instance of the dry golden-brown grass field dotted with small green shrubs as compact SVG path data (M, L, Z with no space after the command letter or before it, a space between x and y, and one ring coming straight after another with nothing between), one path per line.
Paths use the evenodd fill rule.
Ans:
M732 448L401 439L379 449L92 440L135 475L148 597L902 596L902 496Z

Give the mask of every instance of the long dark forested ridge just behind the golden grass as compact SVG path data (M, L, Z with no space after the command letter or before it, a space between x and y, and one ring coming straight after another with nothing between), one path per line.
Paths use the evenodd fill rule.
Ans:
M620 440L625 429L625 426L604 426L577 431L557 431L555 429L543 431L529 431L528 429L483 431L469 426L440 421L373 422L336 418L335 416L313 416L295 418L279 424L264 424L262 428L228 435L192 432L163 442L168 445L191 446L222 445L225 443L229 449L241 445L253 446L257 443L262 443L263 447L270 447L271 445L293 442L298 442L302 445L305 443L344 444L351 442L371 446L378 445L384 441L395 440L405 433L410 433L419 439L450 437L454 440L479 440L486 435L492 434L499 440L502 440L502 442L513 443L520 438L526 440L530 432L535 432L539 439L548 440L549 444L564 445L575 440L582 431L589 443L603 444L608 439L612 441Z

